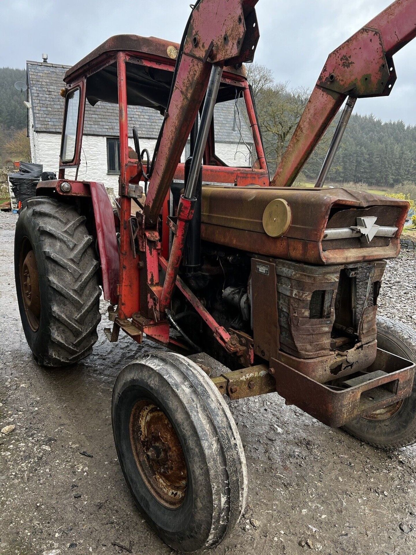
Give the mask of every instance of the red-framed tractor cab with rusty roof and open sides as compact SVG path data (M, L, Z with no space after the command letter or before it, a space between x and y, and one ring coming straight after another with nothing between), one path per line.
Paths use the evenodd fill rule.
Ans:
M134 180L138 155L141 155L137 152L140 120L149 119L150 109L159 116L152 115L155 125L159 122L161 127L168 117L166 110L178 49L179 44L154 37L118 35L109 38L67 71L60 179L64 178L66 168L79 166L84 119L94 118L93 107L100 102L118 104L121 176L129 182ZM134 135L135 144L132 142ZM234 137L234 143L230 143L230 136ZM147 150L143 153L144 173L151 164L151 159L146 158ZM186 149L175 171L175 180L182 183L185 155ZM141 181L144 179L142 175ZM222 74L204 152L203 179L211 184L269 183L253 97L241 64L225 67Z

